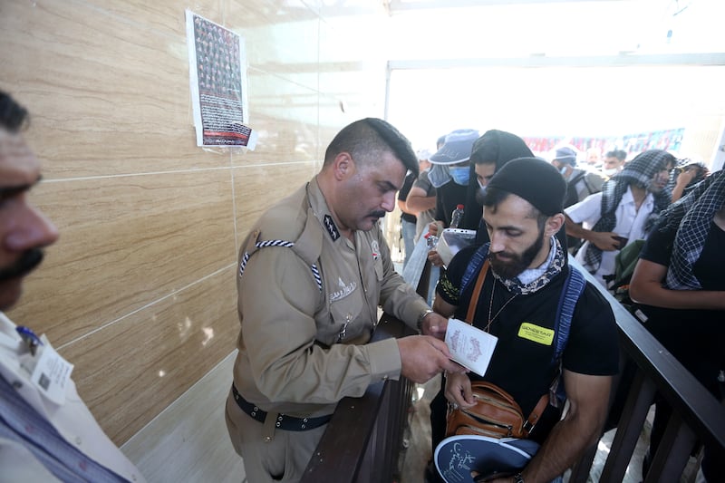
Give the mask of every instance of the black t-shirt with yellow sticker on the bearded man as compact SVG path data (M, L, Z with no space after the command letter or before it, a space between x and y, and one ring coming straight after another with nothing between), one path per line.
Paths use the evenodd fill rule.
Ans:
M465 320L476 282L476 277L472 277L466 290L458 293L461 278L475 251L476 247L468 247L454 256L445 275L441 275L437 289L445 302L457 306L454 316L459 320ZM473 324L482 330L488 324L488 314L493 316L507 305L490 324L489 333L498 337L498 343L486 374L480 377L471 372L469 376L471 380L484 379L503 388L514 397L525 415L534 409L556 376L556 367L552 364L556 349L556 309L569 269L570 266L565 266L564 272L544 288L533 294L517 295L513 300L513 295L496 281L489 269L478 298ZM494 284L496 288L491 300ZM562 364L565 369L582 374L614 375L618 372L619 347L614 314L604 297L588 282L575 306Z

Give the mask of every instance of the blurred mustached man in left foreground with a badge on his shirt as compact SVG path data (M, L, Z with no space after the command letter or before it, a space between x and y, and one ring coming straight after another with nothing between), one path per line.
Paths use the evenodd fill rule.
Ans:
M23 138L27 120L0 92L0 310L18 301L24 276L58 238L28 203L41 175ZM81 401L72 371L44 335L0 312L0 480L144 481Z

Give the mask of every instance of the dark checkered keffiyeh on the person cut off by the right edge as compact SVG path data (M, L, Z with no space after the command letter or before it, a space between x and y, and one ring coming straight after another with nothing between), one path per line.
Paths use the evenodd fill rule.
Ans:
M665 286L671 290L699 290L700 281L692 274L712 227L712 217L725 205L725 171L720 170L692 188L662 213L667 227L678 227L672 247Z

